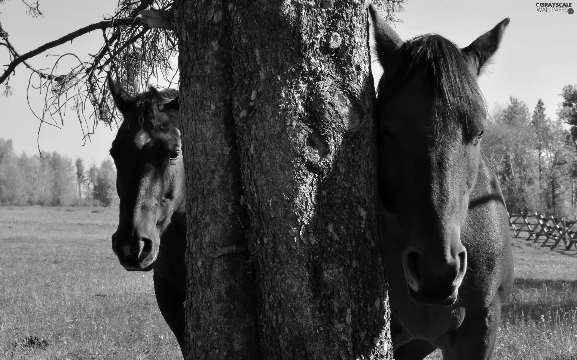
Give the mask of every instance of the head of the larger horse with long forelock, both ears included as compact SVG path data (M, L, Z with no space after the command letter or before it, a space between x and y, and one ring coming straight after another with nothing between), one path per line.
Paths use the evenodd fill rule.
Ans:
M381 201L406 234L410 297L452 305L467 270L460 228L482 157L486 105L477 77L509 19L459 48L436 34L403 42L370 12L384 70L376 103Z

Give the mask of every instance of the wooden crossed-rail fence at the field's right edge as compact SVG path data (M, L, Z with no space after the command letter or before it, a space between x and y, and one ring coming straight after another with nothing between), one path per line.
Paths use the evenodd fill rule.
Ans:
M509 215L509 226L514 237L525 237L525 240L542 242L541 246L556 248L561 242L565 250L570 250L577 242L577 222L565 218L545 217L545 214L512 214ZM577 249L577 245L575 245Z

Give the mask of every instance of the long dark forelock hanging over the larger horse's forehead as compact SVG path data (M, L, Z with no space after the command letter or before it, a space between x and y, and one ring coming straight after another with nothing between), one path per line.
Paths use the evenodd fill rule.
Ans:
M405 41L397 54L393 74L379 83L379 93L384 98L406 84L415 69L422 67L424 84L434 97L433 127L454 126L457 118L468 128L479 118L485 119L486 103L477 78L471 73L463 52L452 41L434 33L419 35Z

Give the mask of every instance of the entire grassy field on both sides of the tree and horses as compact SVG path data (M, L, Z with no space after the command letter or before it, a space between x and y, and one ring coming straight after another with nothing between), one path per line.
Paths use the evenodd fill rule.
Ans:
M152 272L123 270L111 251L117 211L0 207L0 359L182 358ZM494 358L577 360L577 252L512 244L515 289ZM27 336L49 346L21 346Z

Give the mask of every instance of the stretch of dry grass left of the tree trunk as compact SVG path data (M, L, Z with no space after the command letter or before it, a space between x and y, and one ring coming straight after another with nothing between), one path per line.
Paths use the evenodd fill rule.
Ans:
M152 272L123 270L110 248L117 216L0 207L0 359L182 358ZM27 336L50 345L15 345Z

